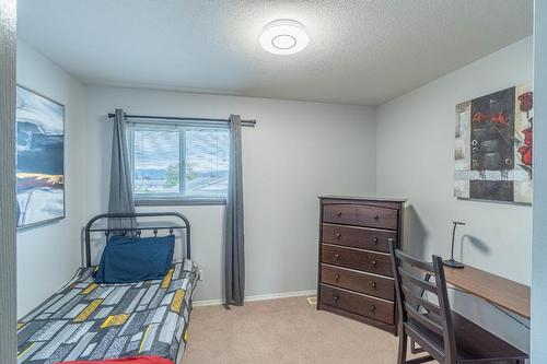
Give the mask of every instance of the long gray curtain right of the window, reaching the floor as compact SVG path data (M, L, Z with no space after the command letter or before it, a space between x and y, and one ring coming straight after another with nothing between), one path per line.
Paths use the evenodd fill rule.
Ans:
M225 304L243 305L245 297L245 256L243 233L241 117L230 116L230 172L224 232Z

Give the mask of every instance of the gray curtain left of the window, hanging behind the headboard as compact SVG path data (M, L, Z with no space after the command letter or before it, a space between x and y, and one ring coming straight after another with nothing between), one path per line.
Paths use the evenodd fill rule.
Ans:
M131 168L126 138L126 116L117 108L114 116L112 138L110 193L108 213L135 212L133 190L131 186ZM136 227L135 219L109 219L109 228Z

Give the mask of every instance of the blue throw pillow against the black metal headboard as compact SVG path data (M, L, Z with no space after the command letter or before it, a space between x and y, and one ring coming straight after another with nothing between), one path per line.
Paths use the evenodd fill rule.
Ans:
M113 236L106 244L95 283L130 283L162 279L173 263L175 236Z

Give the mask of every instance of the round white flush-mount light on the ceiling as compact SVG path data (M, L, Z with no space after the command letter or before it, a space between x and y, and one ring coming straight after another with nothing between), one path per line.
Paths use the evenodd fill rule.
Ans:
M263 48L274 55L298 54L309 42L304 25L290 19L268 23L260 35Z

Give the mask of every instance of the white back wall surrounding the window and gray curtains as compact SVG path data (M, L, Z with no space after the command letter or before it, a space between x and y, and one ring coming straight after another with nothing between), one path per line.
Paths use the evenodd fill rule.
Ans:
M371 108L91 86L85 131L88 218L106 210L112 143L106 114L116 107L129 114L241 114L257 119L255 129L243 129L246 295L314 290L317 196L375 192L376 134ZM193 258L205 270L196 300L220 298L224 207L162 210L181 211L190 220Z

